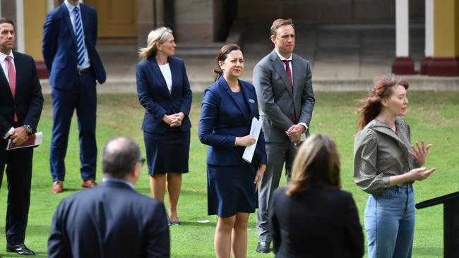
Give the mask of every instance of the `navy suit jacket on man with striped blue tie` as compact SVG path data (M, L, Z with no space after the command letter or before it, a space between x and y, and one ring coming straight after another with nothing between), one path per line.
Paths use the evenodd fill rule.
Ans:
M105 69L95 49L97 41L97 14L95 9L81 4L81 20L85 33L91 68L99 83L105 82ZM43 25L42 52L49 71L49 84L58 89L68 90L76 80L78 58L76 37L68 9L65 4L50 11Z

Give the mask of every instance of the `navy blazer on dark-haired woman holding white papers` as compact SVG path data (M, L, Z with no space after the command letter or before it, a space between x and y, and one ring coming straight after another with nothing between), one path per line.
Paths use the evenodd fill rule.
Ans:
M258 115L258 102L254 85L239 80L244 99L250 107L249 116L244 116L246 110L238 106L231 94L225 78L220 78L204 90L199 119L199 140L208 145L207 164L237 165L242 164L242 154L245 147L234 146L236 137L249 135L252 118ZM266 164L265 138L263 132L258 137L254 159L256 164Z

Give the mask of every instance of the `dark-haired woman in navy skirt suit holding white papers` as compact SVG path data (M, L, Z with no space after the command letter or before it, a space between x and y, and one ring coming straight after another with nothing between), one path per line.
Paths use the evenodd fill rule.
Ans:
M218 216L216 257L246 257L249 214L258 206L258 182L266 169L263 133L250 135L258 116L254 85L239 80L244 56L239 46L220 49L215 83L204 91L199 140L208 145L208 214ZM242 159L247 146L256 144L251 163Z

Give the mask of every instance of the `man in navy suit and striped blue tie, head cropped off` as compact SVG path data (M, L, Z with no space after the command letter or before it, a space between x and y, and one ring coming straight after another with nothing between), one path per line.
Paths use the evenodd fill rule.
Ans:
M80 130L80 160L83 188L95 185L97 146L95 139L95 80L105 82L105 70L95 49L97 15L95 9L66 0L50 11L43 26L43 57L52 86L53 128L49 165L51 192L62 192L65 178L64 158L68 131L76 109Z

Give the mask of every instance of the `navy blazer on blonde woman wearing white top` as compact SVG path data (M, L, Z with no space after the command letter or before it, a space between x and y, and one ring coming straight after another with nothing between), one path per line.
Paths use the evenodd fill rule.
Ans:
M169 56L167 58L172 75L172 91L169 93L160 66L157 65L155 54L136 66L138 100L145 108L142 129L148 133L166 133L169 125L162 121L167 114L183 112L185 118L179 126L183 132L189 131L191 123L191 90L186 76L183 60Z

